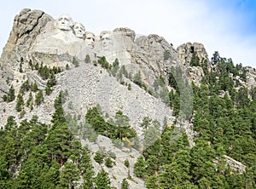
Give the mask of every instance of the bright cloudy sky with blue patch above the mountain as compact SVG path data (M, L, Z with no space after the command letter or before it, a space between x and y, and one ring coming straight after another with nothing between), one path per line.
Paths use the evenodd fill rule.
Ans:
M256 68L256 0L9 0L0 7L0 53L15 15L40 9L56 19L69 14L96 35L129 27L138 35L157 34L177 48L202 43L209 58L214 51L234 64Z

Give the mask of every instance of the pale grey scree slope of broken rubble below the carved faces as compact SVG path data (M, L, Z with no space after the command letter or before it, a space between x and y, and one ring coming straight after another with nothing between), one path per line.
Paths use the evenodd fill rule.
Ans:
M124 78L124 83L130 83L131 89L129 90L126 84L121 85L115 77L109 77L109 73L104 69L83 64L62 74L59 84L61 89L68 93L64 106L72 103L73 112L82 117L90 107L99 105L102 112L108 113L109 117L114 117L116 112L122 111L130 117L131 126L138 132L143 117L151 117L161 124L166 118L167 123L173 123L172 110L160 99L155 99L127 78Z

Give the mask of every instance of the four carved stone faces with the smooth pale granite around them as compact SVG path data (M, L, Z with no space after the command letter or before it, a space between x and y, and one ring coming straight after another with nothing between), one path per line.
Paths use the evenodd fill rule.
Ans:
M128 28L102 31L96 36L86 31L81 23L74 22L70 15L61 14L49 21L35 40L32 51L71 54L80 59L85 54L109 54L112 51L129 49L134 46L135 32Z

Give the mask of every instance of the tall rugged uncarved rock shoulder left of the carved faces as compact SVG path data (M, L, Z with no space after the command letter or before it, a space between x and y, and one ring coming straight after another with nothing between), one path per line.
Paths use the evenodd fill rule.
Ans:
M15 72L20 66L21 57L26 60L26 54L34 43L42 28L51 16L41 10L22 9L15 16L14 26L9 34L9 40L3 48L0 59L0 98L9 89L9 84L15 79Z

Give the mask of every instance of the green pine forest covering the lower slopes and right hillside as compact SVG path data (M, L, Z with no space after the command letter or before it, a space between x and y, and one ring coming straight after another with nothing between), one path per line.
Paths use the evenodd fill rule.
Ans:
M166 122L166 128L160 134L160 123L144 117L143 155L137 158L134 174L143 178L148 188L253 189L256 180L255 89L248 90L240 82L246 79L246 69L241 65L234 66L231 59L220 57L218 52L212 57L212 72L207 72L206 61L200 64L205 66L205 76L201 86L192 83L192 115L187 111L190 105L183 104L190 91L181 68L170 70L167 78L168 84L173 88L170 92L164 89L164 77L157 77L154 82L154 93L164 97L167 92L168 103L174 114L180 113L181 109L185 119L193 123L195 135L188 136L183 129L173 125L166 126ZM118 60L109 67L111 72L114 66L119 66ZM55 85L55 73L59 69L49 69L43 65L34 67L43 74L44 79L48 79L47 85L52 88ZM128 74L125 73L125 67L117 70L117 77L119 72L121 76ZM240 79L233 80L236 76ZM22 94L31 90L26 106L33 104L32 91L38 91L38 86L32 88L33 84L28 81L21 85L16 103L20 117L24 111ZM224 95L219 95L223 91ZM37 99L39 92L36 94ZM87 123L83 127L80 127L78 118L72 115L65 119L62 95L61 92L55 99L55 113L51 124L39 123L35 116L30 121L16 123L15 117L9 116L4 129L0 129L1 188L73 188L80 176L83 176L83 186L86 189L110 188L108 174L102 169L95 176L88 147L82 148L73 134L82 133L84 138L91 141L95 141L98 134L106 135L120 147L124 146L122 140L139 144L136 132L129 124L129 117L121 111L116 112L114 117L108 117L107 121L98 107L90 108L85 116ZM3 98L5 101L15 100L14 89L9 90ZM76 132L71 133L75 130ZM195 146L190 149L191 137L194 137ZM137 146L138 149L136 144L132 146ZM237 174L236 170L226 166L223 155L246 165L246 172ZM96 162L102 164L105 156L102 151L96 152ZM108 156L105 158L105 165L111 168L114 163L111 158L114 155L108 152ZM128 159L125 159L125 166L130 169ZM131 179L129 175L128 178ZM127 180L122 181L121 187L129 188Z

